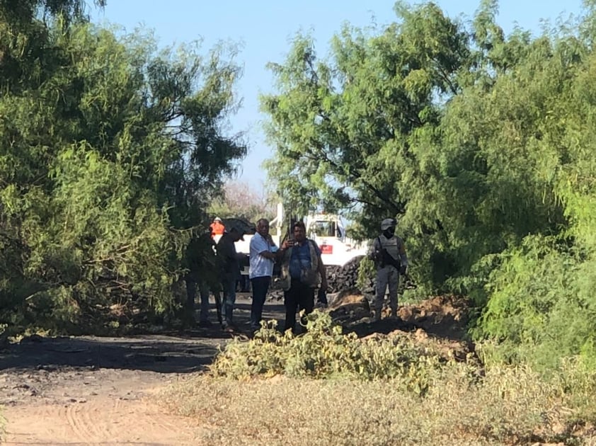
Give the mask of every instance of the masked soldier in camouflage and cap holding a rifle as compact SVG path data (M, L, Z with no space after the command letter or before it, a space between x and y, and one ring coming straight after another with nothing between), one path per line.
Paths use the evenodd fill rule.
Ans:
M374 301L374 320L381 320L385 290L389 286L391 318L397 317L397 287L399 276L406 275L408 256L403 240L395 235L396 221L386 218L381 222L382 234L372 243L371 258L377 265L377 296Z

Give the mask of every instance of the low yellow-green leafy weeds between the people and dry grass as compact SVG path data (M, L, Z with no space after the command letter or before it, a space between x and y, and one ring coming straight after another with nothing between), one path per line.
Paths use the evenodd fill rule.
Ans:
M227 344L210 371L234 379L276 374L317 379L391 378L404 389L423 395L447 362L440 350L423 347L407 336L361 340L355 333L344 335L328 313L315 311L306 326L306 333L293 336L290 331L277 331L275 321L263 322L251 341L236 339Z

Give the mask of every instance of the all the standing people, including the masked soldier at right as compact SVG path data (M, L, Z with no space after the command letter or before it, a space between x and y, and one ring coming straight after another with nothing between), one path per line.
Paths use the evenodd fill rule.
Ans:
M236 302L236 281L240 277L240 262L246 254L237 253L235 242L243 240L243 229L231 226L224 230L223 224L214 221L210 231L193 238L188 247L189 273L186 280L188 305L194 309L195 290L200 290L200 326L210 326L209 295L212 292L217 302L219 321L224 330L234 331L234 304ZM217 224L216 224L217 223ZM219 224L222 224L219 226ZM215 229L214 229L215 228ZM403 240L396 236L396 221L384 219L382 234L374 239L370 258L377 265L377 285L374 302L374 319L381 319L385 292L389 287L391 317L397 315L397 288L400 275L406 275L408 257ZM215 232L221 231L219 241L214 241ZM328 289L326 268L321 259L321 249L314 240L306 237L304 222L295 222L292 232L282 246L275 245L269 234L267 219L259 219L256 234L250 242L248 276L251 280L253 300L251 304L251 329L257 331L263 319L263 307L267 297L273 268L280 263L280 283L284 290L285 330L296 331L296 312L304 310L304 316L314 310L315 290ZM219 282L219 283L218 283ZM219 302L219 291L223 302ZM305 325L306 321L302 321Z

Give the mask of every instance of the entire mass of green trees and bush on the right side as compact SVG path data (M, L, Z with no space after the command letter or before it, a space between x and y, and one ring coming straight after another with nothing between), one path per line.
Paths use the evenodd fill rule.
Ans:
M326 59L298 36L263 96L288 200L399 217L420 289L469 295L478 336L546 367L594 358L595 15L533 36L482 1L467 24L396 5ZM546 260L545 260L546 259Z

